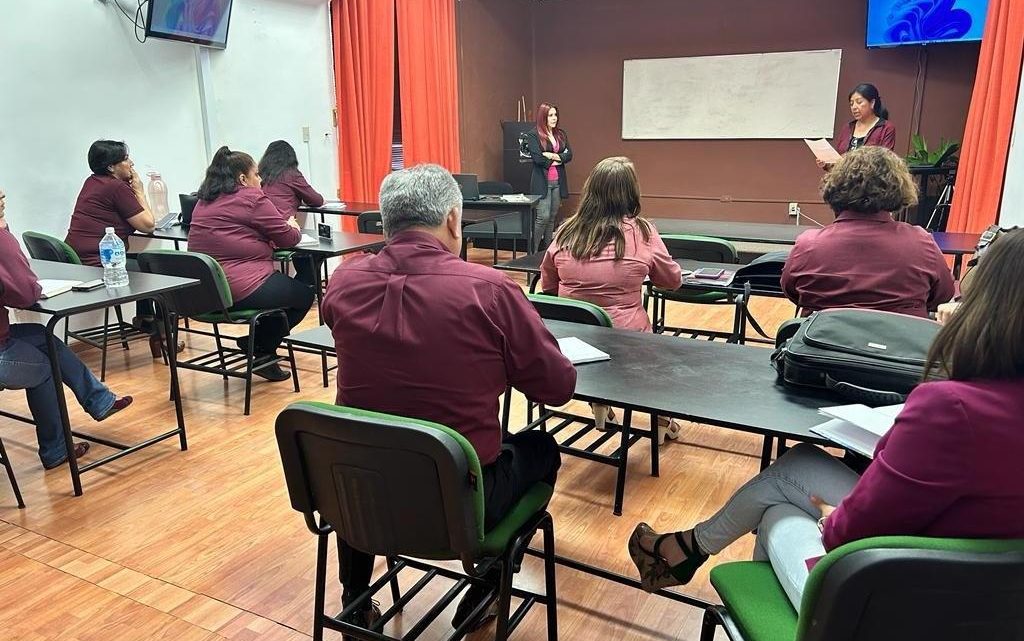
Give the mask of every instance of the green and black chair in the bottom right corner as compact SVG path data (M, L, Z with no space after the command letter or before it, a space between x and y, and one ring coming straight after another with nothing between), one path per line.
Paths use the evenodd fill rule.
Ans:
M711 571L724 605L701 641L1010 641L1024 639L1024 540L878 537L811 570L798 613L768 562Z

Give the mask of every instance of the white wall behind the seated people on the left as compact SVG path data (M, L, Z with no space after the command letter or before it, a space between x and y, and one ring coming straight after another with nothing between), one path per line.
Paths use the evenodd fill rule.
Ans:
M0 188L16 236L63 238L97 138L125 140L143 177L160 170L172 210L174 195L199 186L206 154L194 47L139 44L132 32L113 0L3 3ZM227 49L210 57L214 143L258 159L271 140L288 139L313 186L335 198L327 0L236 0Z

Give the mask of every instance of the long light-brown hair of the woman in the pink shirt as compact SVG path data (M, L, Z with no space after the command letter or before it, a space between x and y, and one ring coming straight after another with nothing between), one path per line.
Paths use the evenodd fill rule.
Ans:
M615 260L626 255L623 218L632 218L643 240L650 240L650 224L640 217L640 183L633 161L625 156L606 158L590 172L583 185L580 208L555 233L559 247L572 258L595 258L608 243L615 244Z

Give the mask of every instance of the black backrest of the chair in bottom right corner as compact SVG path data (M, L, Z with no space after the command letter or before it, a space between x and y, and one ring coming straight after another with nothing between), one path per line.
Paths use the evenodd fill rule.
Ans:
M864 539L815 565L797 639L1024 639L1022 604L1024 541Z

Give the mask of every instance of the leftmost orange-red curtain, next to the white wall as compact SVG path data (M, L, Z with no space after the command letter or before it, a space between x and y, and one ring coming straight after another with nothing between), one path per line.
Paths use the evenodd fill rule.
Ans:
M394 3L331 0L341 198L376 203L391 170ZM354 230L350 216L344 227Z

